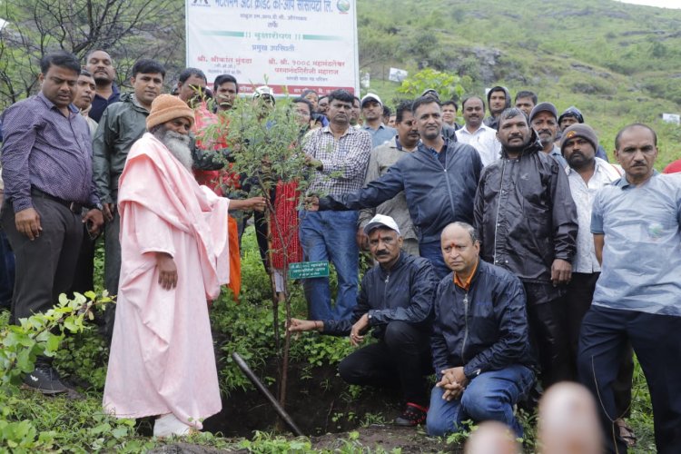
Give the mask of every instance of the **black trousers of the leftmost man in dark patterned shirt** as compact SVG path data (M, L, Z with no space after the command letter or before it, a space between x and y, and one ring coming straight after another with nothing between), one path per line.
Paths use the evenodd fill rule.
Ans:
M81 214L59 202L34 197L40 216L40 232L34 241L16 230L15 212L5 203L2 223L15 252L15 291L12 323L51 309L59 294L68 291L74 279L75 263L83 241Z

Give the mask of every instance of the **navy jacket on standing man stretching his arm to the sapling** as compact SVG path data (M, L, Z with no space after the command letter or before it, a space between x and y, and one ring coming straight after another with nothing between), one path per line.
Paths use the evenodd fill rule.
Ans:
M472 146L451 141L445 146L440 152L445 153L444 165L419 143L415 152L359 192L321 197L320 210L372 208L404 191L419 242L439 242L439 234L450 222L473 223L473 199L482 170L480 155Z

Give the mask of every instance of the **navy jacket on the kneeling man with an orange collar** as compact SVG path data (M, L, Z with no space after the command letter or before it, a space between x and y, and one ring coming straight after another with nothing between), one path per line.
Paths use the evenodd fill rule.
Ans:
M479 261L469 290L454 273L435 293L430 350L435 371L463 366L470 379L514 364L535 365L528 336L525 291L506 270Z

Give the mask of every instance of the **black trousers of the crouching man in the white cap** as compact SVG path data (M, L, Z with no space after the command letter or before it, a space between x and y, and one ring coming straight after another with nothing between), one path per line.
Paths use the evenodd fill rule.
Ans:
M338 369L341 378L353 385L385 388L399 383L407 402L428 407L425 376L432 373L429 332L406 321L390 321L383 339L351 353Z

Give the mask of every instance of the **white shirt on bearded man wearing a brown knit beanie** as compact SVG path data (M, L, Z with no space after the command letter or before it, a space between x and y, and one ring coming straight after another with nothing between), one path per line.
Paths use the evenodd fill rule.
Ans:
M591 234L591 207L594 204L596 193L607 184L610 184L620 177L620 171L606 161L596 159L596 169L588 183L568 167L568 181L570 182L570 192L572 199L577 205L577 253L572 262L572 272L592 273L600 271L600 265L596 259L594 249L594 235Z

